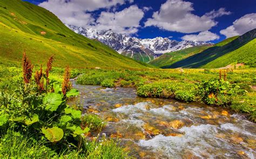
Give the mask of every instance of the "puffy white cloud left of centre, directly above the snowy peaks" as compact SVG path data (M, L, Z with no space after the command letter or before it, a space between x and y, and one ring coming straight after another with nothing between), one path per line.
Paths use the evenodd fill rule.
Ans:
M113 30L117 33L133 34L138 32L139 21L144 12L137 5L131 5L119 12L101 12L93 26L97 30Z

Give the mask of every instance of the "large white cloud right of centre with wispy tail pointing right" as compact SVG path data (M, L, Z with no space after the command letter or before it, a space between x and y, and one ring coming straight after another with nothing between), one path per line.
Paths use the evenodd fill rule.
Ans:
M201 32L217 25L214 18L231 13L221 8L199 17L192 13L194 10L192 5L193 3L183 0L167 0L159 11L153 13L152 18L147 19L145 26L157 26L167 31L181 33Z

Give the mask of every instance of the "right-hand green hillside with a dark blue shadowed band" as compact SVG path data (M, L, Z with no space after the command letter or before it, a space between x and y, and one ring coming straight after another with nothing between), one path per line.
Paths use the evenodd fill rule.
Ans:
M233 37L224 40L201 53L163 68L220 68L233 62L245 63L248 67L256 67L255 38L256 29L238 38Z

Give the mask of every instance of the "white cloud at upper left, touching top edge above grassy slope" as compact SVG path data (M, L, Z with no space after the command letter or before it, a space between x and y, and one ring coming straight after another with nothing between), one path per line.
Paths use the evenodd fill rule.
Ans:
M100 8L111 8L118 4L124 4L124 0L48 0L39 4L45 9L53 12L63 23L87 26L94 20L90 13L86 11L95 11Z

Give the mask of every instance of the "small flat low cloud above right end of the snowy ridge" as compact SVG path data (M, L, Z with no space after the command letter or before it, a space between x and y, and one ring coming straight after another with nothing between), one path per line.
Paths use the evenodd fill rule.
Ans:
M214 34L209 31L204 31L200 32L199 34L190 34L190 35L185 35L181 39L183 40L189 40L189 41L212 41L219 39L219 35Z

